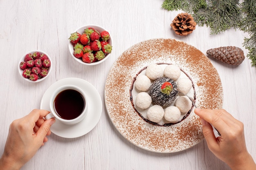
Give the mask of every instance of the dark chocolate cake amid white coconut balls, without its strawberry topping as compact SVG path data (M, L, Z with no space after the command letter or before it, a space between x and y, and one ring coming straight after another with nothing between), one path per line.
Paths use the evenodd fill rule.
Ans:
M164 82L170 82L173 85L173 90L169 95L166 95L161 92L161 86ZM152 98L152 102L160 106L169 106L178 96L177 84L173 79L167 77L160 77L155 80L153 84L148 89L148 94Z

